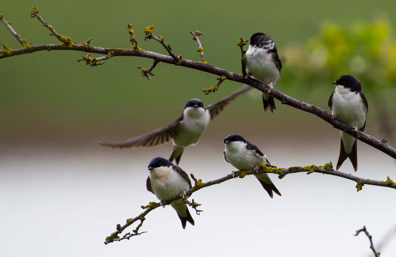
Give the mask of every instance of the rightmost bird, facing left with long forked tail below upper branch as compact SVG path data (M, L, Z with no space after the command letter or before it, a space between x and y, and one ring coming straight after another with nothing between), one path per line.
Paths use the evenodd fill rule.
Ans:
M354 131L364 131L366 127L367 99L362 92L362 85L359 80L350 74L339 76L335 82L335 90L331 93L328 105L333 118L353 127ZM340 155L337 162L337 170L341 167L346 158L349 158L354 170L358 169L358 152L356 148L356 138L341 132Z

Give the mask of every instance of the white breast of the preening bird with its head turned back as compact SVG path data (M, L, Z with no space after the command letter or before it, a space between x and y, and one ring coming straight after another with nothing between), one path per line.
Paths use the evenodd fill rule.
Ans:
M280 76L279 69L268 51L251 45L246 51L246 71L254 79L265 84L272 82L273 86Z

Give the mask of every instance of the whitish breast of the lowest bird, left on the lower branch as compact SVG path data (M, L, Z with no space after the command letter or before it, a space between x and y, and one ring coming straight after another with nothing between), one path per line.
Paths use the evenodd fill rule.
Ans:
M172 167L158 167L150 170L151 189L159 200L171 200L182 191L190 189L190 185Z

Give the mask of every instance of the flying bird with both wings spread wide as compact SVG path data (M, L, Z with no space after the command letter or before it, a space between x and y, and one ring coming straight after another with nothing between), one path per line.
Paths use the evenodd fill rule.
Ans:
M145 135L126 139L117 142L97 141L99 144L110 147L153 147L167 143L173 139L173 152L169 161L176 160L179 164L181 154L186 147L194 146L198 143L202 133L204 133L209 121L215 118L226 105L234 100L238 95L251 89L244 86L231 95L212 103L207 107L199 99L190 99L184 106L183 113L173 123L163 128L156 129Z

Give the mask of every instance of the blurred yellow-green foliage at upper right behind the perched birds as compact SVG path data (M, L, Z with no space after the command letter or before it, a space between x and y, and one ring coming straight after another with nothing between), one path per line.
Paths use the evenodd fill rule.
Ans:
M314 86L348 73L360 80L364 92L396 83L396 38L384 20L324 23L318 35L287 46L282 55L283 82Z

